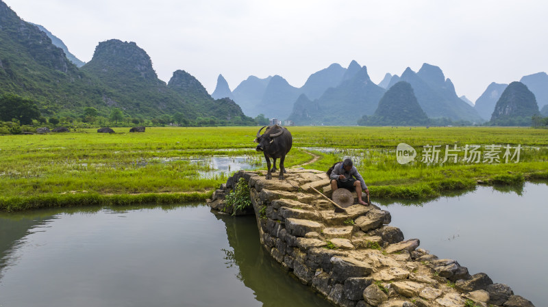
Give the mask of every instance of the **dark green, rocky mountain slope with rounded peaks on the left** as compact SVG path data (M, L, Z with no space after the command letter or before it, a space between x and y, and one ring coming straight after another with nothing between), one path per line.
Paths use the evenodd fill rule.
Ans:
M0 94L31 98L44 116L79 116L86 107L108 116L118 107L125 116L149 119L179 114L186 122L255 124L234 101L215 100L183 70L166 85L134 42L101 42L91 61L78 68L50 36L64 46L0 0Z

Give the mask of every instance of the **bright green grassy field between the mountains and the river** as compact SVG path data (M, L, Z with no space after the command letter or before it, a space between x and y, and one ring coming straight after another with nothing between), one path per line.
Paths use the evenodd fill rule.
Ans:
M195 157L247 156L261 166L253 139L258 127L147 128L145 133L95 129L47 135L0 135L0 210L86 204L173 203L208 198L224 183ZM290 127L293 149L286 167L312 157L305 168L327 170L343 157L353 157L373 197L429 198L446 191L471 189L477 180L523 185L527 178L548 178L548 133L544 129L495 127ZM399 143L413 146L413 163L397 163ZM426 145L521 145L514 163L423 163ZM335 148L332 152L326 148ZM482 150L486 150L482 147ZM503 156L503 151L500 157ZM441 159L440 159L441 160Z

